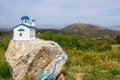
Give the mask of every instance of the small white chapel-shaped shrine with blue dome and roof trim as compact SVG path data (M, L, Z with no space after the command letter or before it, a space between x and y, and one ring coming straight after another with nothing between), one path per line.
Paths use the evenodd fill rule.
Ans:
M28 16L21 17L21 20L22 23L13 28L13 40L35 40L35 20L29 23L30 18Z

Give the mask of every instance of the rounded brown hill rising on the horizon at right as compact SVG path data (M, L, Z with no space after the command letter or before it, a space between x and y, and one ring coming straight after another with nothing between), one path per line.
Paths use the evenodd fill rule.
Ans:
M120 31L84 23L75 23L66 26L62 29L62 31L67 34L75 34L77 36L114 37L120 35Z

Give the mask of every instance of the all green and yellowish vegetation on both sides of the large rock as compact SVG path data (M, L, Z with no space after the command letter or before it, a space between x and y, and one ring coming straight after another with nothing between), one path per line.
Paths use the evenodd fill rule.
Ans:
M120 79L120 45L117 38L77 37L51 31L37 34L37 37L57 42L67 53L69 59L61 72L66 79ZM11 34L0 33L0 80L12 80L4 58L11 38Z

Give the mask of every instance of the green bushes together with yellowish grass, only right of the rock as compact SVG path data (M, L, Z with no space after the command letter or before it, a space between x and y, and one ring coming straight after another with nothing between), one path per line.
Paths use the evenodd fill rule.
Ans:
M119 61L119 51L114 52L111 45L112 39L93 40L78 38L74 35L53 34L50 31L38 35L46 40L59 43L68 55L62 73L70 80L76 79L77 73L84 73L83 80L114 80L119 78L119 71L106 68L106 63ZM101 64L101 65L99 65ZM114 65L113 65L114 66ZM113 76L117 75L117 77ZM112 76L112 77L111 77Z

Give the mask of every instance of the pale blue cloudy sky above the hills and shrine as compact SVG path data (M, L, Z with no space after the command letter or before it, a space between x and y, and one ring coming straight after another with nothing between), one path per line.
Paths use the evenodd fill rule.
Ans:
M120 25L120 0L0 0L0 28L14 27L27 15L39 28L73 23Z

